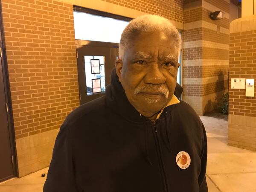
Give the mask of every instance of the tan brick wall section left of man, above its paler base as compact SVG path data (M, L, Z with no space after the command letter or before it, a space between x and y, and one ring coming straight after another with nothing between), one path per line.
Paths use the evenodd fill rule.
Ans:
M73 6L3 0L16 139L57 129L79 105Z

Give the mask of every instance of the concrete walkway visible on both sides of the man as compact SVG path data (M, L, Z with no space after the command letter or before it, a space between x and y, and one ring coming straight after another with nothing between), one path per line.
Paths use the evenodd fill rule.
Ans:
M201 116L208 139L209 192L256 192L256 152L227 145L228 122ZM48 168L0 184L0 192L42 192Z

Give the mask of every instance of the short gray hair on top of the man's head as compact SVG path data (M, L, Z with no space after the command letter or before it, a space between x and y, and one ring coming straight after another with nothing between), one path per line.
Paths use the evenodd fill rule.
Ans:
M134 37L143 32L164 32L174 40L174 46L180 50L181 38L178 30L166 18L158 15L143 15L131 20L122 32L119 43L119 57L123 59L127 49Z

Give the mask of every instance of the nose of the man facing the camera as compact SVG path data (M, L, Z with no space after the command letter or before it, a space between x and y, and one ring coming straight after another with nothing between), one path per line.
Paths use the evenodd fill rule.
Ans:
M160 69L159 64L152 64L148 67L147 74L144 77L144 83L163 84L166 82L165 76Z

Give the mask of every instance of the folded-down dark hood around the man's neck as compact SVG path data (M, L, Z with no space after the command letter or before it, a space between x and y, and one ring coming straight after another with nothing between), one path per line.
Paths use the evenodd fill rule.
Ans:
M175 96L180 98L183 88L176 84ZM111 108L115 113L124 117L130 122L143 123L143 118L140 113L131 105L125 95L125 90L118 80L116 69L114 68L111 73L111 83L106 87L106 103L108 108Z

